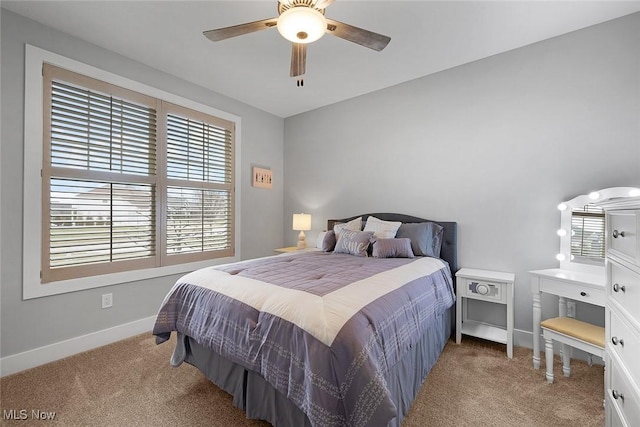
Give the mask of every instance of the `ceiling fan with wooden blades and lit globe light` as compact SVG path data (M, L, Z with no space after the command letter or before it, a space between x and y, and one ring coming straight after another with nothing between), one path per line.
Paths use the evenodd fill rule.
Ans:
M334 0L278 0L277 18L204 31L203 34L209 40L217 42L277 27L280 34L293 43L291 77L299 77L305 73L307 44L318 40L325 33L377 51L389 44L390 37L326 18L325 8L333 2ZM297 84L303 86L304 81L298 79Z

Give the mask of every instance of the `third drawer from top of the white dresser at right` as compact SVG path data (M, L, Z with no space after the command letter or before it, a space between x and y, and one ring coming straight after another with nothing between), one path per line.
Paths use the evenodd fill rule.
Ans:
M615 310L607 310L606 321L611 331L607 335L607 347L627 367L631 378L640 384L640 339L629 323L622 320ZM639 419L640 421L640 419Z

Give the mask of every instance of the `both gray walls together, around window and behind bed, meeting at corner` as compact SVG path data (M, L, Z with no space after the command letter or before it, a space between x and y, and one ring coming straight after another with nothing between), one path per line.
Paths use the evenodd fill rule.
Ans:
M0 357L152 316L176 279L22 301L24 43L240 116L242 258L295 244L294 212L313 214L310 241L327 218L361 212L455 220L461 266L517 274L516 328L526 331L526 272L557 265L558 202L640 185L639 14L284 124L6 10L1 19ZM273 190L250 186L251 165L274 170ZM107 291L115 304L101 310ZM583 314L601 321L599 310Z

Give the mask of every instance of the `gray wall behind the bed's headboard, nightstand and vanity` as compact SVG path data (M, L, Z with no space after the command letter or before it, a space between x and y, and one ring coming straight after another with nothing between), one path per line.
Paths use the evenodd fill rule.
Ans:
M638 46L635 14L285 119L285 242L299 211L310 240L358 213L457 221L459 265L516 273L530 332L527 271L558 266L557 204L640 186Z

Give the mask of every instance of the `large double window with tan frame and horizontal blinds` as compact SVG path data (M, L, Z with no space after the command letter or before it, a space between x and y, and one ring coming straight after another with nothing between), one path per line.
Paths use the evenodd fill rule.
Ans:
M234 255L233 121L43 76L42 283Z

